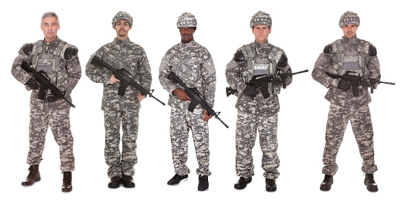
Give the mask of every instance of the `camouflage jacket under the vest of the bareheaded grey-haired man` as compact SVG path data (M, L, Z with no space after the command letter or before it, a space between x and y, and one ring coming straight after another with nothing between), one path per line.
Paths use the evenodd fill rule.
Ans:
M12 75L15 77L16 80L24 84L25 88L28 91L30 91L31 88L26 85L26 82L30 80L32 75L21 68L21 63L23 61L33 63L33 67L36 68L36 66L38 65L37 59L41 58L42 56L42 53L38 53L38 50L48 51L48 53L50 53L50 57L58 61L58 66L57 62L54 62L54 66L57 67L53 67L53 69L51 70L51 74L55 76L51 77L50 81L51 83L56 85L56 87L59 88L60 91L66 91L65 97L67 100L71 101L71 91L78 84L78 81L81 77L81 65L78 56L73 58L73 60L66 60L64 57L65 49L73 46L65 43L65 41L60 40L60 38L58 37L51 43L49 43L49 45L46 45L46 43L44 43L44 40L38 40L38 42L33 43L33 45L34 47L32 48L32 51L25 51L28 53L25 53L23 47L21 47L21 49L19 50L19 55L16 56L14 63L12 64ZM56 78L56 80L54 80L54 78ZM60 80L60 78L62 78L62 80ZM46 93L49 94L50 91L47 90ZM45 105L47 106L47 108L54 110L71 107L64 99L58 99L58 101L55 101L54 103L45 103L45 101L38 99L38 94L39 90L32 90L30 101L31 108L35 108L38 105Z

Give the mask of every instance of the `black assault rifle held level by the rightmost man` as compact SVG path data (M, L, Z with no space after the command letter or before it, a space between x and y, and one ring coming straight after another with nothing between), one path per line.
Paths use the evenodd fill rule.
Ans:
M345 80L348 82L351 82L352 85L352 96L356 97L359 96L359 92L358 92L358 84L359 82L363 79L363 77L359 76L359 73L356 73L354 71L347 71L345 72L344 75L336 75L333 73L326 73L327 75L329 75L330 77L337 79L337 78L341 78L341 80ZM356 75L358 74L358 75ZM367 78L367 80L369 80L370 82L370 93L373 94L373 90L374 90L374 84L392 84L392 85L396 85L396 83L393 82L382 82L380 81L380 76L376 77L376 78Z

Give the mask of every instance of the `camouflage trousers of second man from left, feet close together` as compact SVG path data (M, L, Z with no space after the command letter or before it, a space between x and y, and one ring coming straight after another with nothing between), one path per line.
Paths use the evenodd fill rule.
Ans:
M138 111L104 111L104 158L108 165L108 178L134 176L137 163ZM120 124L122 123L122 152L119 151Z

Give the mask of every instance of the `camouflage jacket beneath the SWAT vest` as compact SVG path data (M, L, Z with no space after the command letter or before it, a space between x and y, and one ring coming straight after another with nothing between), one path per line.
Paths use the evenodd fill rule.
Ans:
M281 58L281 55L285 53L282 49L279 49L278 47L275 47L274 45L268 43L268 41L266 41L266 43L262 45L255 41L254 43L250 43L248 45L240 47L240 49L238 49L237 51L241 50L242 53L244 53L246 60L244 62L236 62L234 59L232 59L227 64L225 75L227 77L227 83L229 84L229 86L238 91L238 100L236 103L236 108L238 108L238 110L249 113L259 112L263 115L271 115L279 112L280 106L279 97L277 94L279 93L279 89L282 86L275 87L277 89L275 93L271 94L270 97L266 99L264 99L262 93L257 94L254 100L247 95L242 95L242 91L247 84L245 84L245 82L241 80L240 75L242 75L242 73L244 73L245 71L249 71L250 69L248 65L251 64L249 63L250 55L249 53L247 53L249 52L247 50L253 50L253 52L257 53L257 56L259 57L268 58L268 53L271 53L271 49L279 50L277 51L277 56L280 57L273 57L273 60L277 64L277 62ZM288 69L290 69L290 65L287 64L284 68L273 67L273 69L278 69L280 73L285 73ZM289 85L292 81L292 77L287 77L286 84Z

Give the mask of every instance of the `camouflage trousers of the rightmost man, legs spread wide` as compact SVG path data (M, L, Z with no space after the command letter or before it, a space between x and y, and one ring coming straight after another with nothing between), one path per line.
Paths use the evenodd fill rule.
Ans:
M378 168L374 163L373 127L367 104L364 106L330 104L322 173L334 176L339 169L336 164L336 156L339 153L341 142L343 142L348 120L351 121L352 132L358 143L360 156L363 158L362 171L366 174L373 174Z

